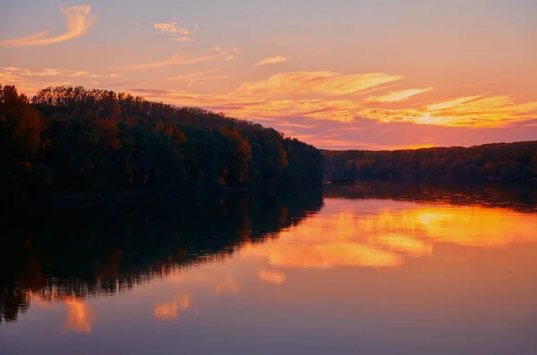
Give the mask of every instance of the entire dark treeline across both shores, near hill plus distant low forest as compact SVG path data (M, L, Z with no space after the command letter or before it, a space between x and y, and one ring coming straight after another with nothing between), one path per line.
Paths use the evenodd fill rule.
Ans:
M81 87L30 100L0 85L0 198L182 195L325 179L535 181L537 141L472 148L321 151L196 107Z

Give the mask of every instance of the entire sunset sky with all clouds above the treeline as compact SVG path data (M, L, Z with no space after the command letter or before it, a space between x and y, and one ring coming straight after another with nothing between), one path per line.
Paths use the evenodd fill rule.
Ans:
M537 139L535 0L0 0L0 83L129 92L318 148Z

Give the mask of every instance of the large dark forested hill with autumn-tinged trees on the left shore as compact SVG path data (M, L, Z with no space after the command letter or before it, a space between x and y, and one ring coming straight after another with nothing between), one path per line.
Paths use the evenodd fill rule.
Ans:
M0 197L318 184L319 149L196 107L82 87L0 85Z

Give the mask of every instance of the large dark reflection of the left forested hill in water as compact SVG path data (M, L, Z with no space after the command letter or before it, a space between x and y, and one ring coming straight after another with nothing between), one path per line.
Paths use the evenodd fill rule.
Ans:
M180 206L17 214L1 221L0 321L32 299L76 300L126 292L262 242L322 206L320 190L241 196Z

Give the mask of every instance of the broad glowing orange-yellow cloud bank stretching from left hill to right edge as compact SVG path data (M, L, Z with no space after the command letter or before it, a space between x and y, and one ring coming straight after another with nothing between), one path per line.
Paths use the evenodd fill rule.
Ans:
M195 75L202 76L202 73ZM506 127L511 123L527 122L537 112L537 102L516 103L508 96L456 97L436 104L404 108L393 108L393 103L425 92L426 89L388 92L383 100L377 101L366 97L371 88L384 86L386 90L386 83L400 79L402 77L398 75L381 73L341 75L333 72L292 72L276 74L256 83L245 82L227 94L197 95L168 90L158 95L149 91L147 95L152 99L202 106L257 121L270 121L277 117L278 123L288 122L279 124L282 128L297 129L306 129L308 126L303 122L296 123L297 118L340 123L362 120L417 123L431 127ZM318 98L312 98L316 96ZM388 108L386 104L391 107ZM336 146L336 143L330 145Z

